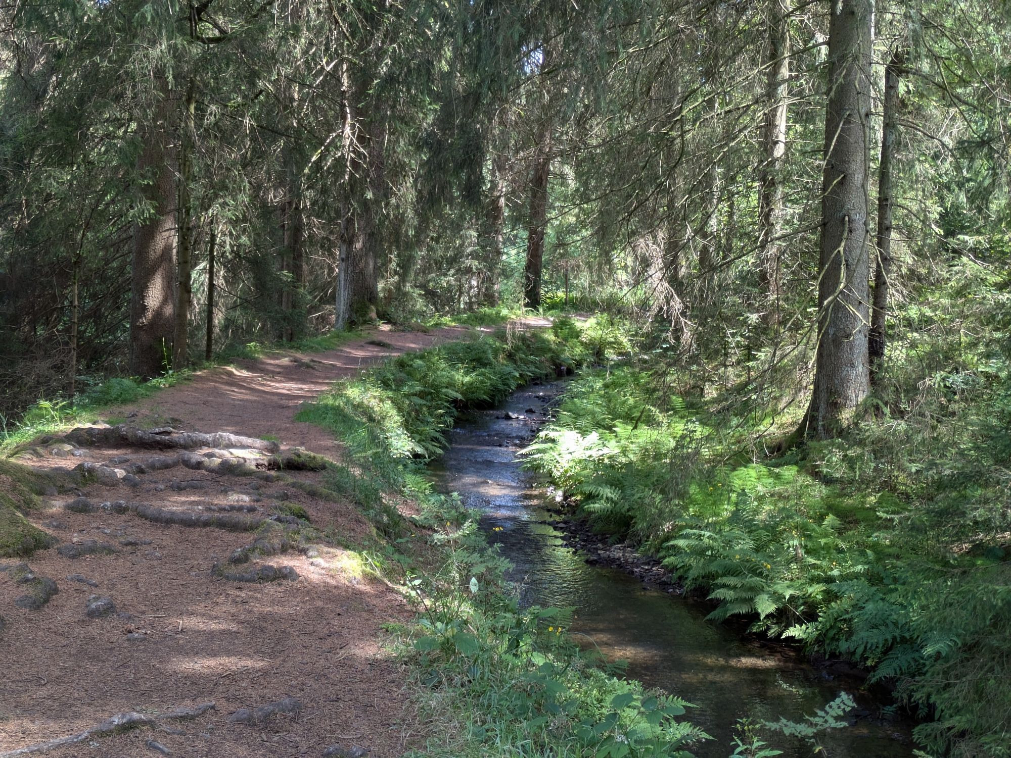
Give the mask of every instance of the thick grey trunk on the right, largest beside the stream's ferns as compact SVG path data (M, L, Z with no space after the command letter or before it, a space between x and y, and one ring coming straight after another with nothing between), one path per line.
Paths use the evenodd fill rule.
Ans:
M837 0L828 41L828 104L819 253L818 348L802 433L838 433L870 388L867 199L874 0Z

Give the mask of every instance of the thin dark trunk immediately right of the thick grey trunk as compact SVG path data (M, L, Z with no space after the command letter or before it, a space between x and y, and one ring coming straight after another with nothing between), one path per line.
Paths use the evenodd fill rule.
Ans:
M892 273L892 193L895 184L893 163L901 107L899 78L902 76L903 63L903 53L898 51L885 68L885 117L882 128L881 163L878 169L878 262L875 266L875 294L867 351L870 360L870 381L874 384L878 383L885 360L889 276Z

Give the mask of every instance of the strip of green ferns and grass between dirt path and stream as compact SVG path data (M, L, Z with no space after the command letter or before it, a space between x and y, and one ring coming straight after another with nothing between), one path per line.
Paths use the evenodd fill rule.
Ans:
M419 465L438 455L456 414L486 407L537 378L627 347L613 324L499 331L401 356L340 382L303 408L301 420L343 440L362 476L331 486L407 496L421 509L412 532L427 534L441 560L417 568L401 538L373 556L398 574L418 610L394 626L415 699L429 724L425 756L690 756L704 736L679 721L688 707L613 675L564 634L558 608L521 608L459 499L438 495Z

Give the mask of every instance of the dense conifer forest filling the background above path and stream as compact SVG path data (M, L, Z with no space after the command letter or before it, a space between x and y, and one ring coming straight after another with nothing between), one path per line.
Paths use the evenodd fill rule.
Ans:
M895 305L1009 247L999 4L3 13L12 418L253 341L564 302L701 365L817 353L823 434L826 392L869 386L827 377L880 375Z

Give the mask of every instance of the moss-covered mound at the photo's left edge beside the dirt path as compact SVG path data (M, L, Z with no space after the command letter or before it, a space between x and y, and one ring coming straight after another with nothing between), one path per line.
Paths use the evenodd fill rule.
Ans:
M55 477L0 460L0 557L31 555L55 539L28 523L24 513L38 505L38 496L57 491Z

